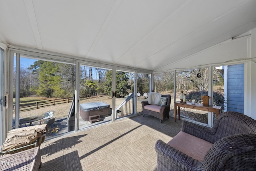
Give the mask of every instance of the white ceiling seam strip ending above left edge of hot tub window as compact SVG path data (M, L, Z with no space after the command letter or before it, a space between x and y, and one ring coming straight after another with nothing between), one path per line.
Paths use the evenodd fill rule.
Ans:
M114 2L114 4L112 5L110 11L108 12L108 15L106 16L104 22L102 23L102 26L100 27L100 30L99 30L98 34L94 38L94 41L92 42L92 45L91 45L90 49L88 50L85 58L89 58L88 56L90 56L90 53L94 50L95 46L98 44L102 34L104 33L104 31L108 27L108 24L110 23L110 21L112 20L112 18L116 14L116 11L120 7L122 1L123 0L116 0Z

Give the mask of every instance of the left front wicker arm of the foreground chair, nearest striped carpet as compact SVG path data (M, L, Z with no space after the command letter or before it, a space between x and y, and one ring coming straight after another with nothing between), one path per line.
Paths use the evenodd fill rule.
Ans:
M162 140L156 141L155 150L157 154L157 171L199 171L200 161L182 153Z

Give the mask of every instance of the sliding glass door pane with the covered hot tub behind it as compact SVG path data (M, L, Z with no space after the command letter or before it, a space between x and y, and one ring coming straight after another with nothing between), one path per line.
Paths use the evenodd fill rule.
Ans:
M112 121L112 69L80 64L79 70L79 129Z

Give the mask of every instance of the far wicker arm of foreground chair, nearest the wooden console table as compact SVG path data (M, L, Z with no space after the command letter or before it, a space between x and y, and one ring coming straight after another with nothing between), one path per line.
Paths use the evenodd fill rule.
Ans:
M194 135L195 137L204 139L210 143L214 142L214 131L210 127L198 125L196 123L183 121L181 125L181 131L186 132L190 135Z

